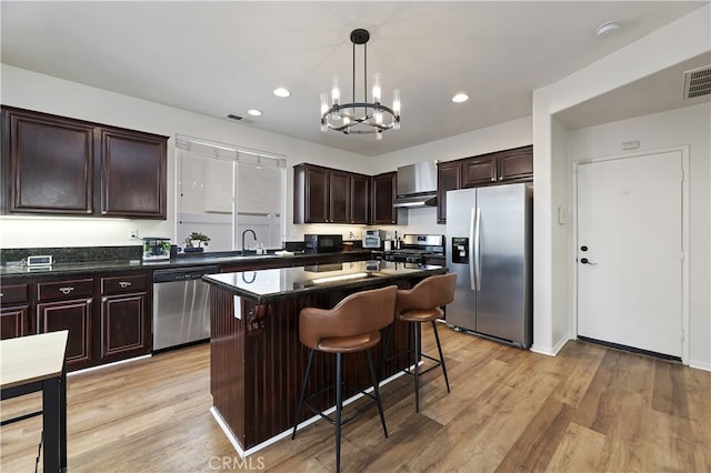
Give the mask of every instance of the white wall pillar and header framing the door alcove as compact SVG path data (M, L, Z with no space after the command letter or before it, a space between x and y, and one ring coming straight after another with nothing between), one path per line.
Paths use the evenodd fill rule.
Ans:
M534 351L554 354L570 336L565 334L569 333L572 294L569 289L564 292L559 291L559 288L569 288L570 248L569 244L561 246L560 243L569 242L571 235L569 228L557 223L558 207L570 205L570 175L560 171L561 167L569 167L565 148L561 145L569 132L557 122L555 113L710 51L710 17L711 6L707 4L598 62L533 91ZM695 170L692 169L691 172L694 173ZM695 181L704 179L703 170L701 172L701 178L693 178ZM697 222L695 227L698 225L703 227L703 221ZM708 263L710 259L705 258L703 261ZM694 283L694 286L700 285L704 285L703 279ZM707 283L705 289L709 286ZM701 314L701 319L697 319L697 323L700 323L697 329L702 333L694 335L697 348L690 358L694 365L709 369L710 308L698 295L694 300L698 304L695 311ZM707 322L702 322L703 314Z

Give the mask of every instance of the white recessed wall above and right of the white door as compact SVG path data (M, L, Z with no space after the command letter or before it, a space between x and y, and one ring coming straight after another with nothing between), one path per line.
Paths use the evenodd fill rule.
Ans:
M574 161L621 155L625 141L640 142L635 152L689 145L689 364L711 370L711 104L569 130L567 141L569 169Z

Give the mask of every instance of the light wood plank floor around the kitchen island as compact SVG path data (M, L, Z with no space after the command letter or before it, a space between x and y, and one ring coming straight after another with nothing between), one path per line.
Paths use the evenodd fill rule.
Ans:
M411 378L384 386L390 437L374 409L346 425L344 472L711 472L710 372L581 342L551 358L440 333L451 394L429 373L415 414ZM333 470L326 422L240 460L208 412L208 366L200 345L71 375L69 471ZM39 399L1 406L7 419ZM34 470L40 424L2 427L0 471Z

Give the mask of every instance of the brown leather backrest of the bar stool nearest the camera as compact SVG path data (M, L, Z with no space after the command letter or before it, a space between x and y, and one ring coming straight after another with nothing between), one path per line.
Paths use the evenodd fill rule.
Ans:
M333 309L303 308L299 338L309 348L330 336L354 336L390 325L394 319L398 286L389 285L350 294Z

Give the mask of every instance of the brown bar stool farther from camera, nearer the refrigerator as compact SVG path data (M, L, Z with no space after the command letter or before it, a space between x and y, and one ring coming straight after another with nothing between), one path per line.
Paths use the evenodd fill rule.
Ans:
M385 336L384 351L381 365L389 363L390 360L407 355L408 359L412 358L413 361L409 366L414 365L414 369L407 368L402 371L414 376L414 411L420 412L420 375L434 370L438 366L442 366L442 373L444 374L444 382L447 383L447 392L449 389L449 378L447 376L447 366L444 365L444 355L442 354L442 344L440 343L440 335L437 332L437 319L443 315L441 309L442 305L447 305L454 299L454 284L457 282L457 273L447 273L429 276L415 284L414 288L408 290L398 291L398 301L395 304L395 320L410 323L410 340L414 340L414 348L408 346L408 350L397 353L392 356L388 356L388 348L390 344L390 338L392 336L392 329L388 331ZM439 351L439 360L428 354L422 353L420 346L420 338L418 336L418 324L423 322L432 323L432 331L434 332L434 340L437 341L437 350ZM408 343L410 345L410 343ZM425 358L435 362L434 365L420 372L420 358Z

